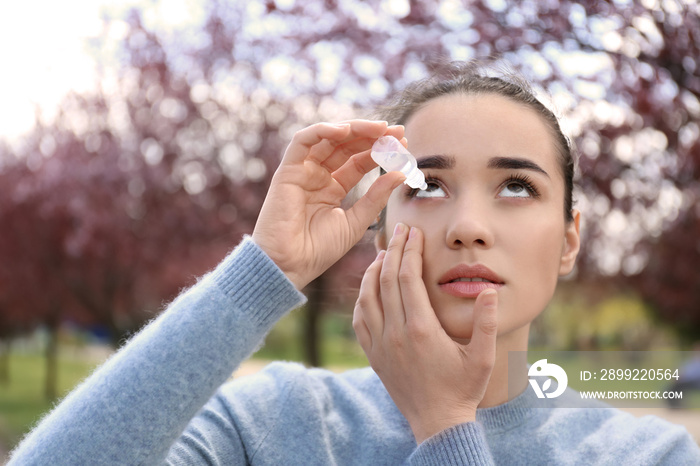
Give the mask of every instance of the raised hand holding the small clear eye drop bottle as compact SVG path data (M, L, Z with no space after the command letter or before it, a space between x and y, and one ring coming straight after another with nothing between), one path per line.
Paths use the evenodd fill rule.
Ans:
M403 182L400 172L377 179L351 208L341 202L377 164L370 156L384 135L403 138L385 121L318 123L297 132L272 177L253 241L301 290L357 243Z

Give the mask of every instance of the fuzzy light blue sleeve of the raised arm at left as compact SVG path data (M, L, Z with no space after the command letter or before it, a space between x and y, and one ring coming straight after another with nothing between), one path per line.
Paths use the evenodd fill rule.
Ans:
M70 393L8 464L157 464L304 296L250 238Z

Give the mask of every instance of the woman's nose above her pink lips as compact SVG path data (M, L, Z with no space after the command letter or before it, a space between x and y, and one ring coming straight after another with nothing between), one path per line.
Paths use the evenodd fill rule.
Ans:
M465 199L455 205L448 220L446 242L453 249L461 247L488 249L493 246L494 235L488 222L488 207L474 200Z

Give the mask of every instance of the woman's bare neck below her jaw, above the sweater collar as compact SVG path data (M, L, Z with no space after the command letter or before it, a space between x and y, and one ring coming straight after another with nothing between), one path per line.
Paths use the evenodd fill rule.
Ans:
M479 408L488 408L505 403L522 393L527 388L527 361L517 358L517 366L508 370L509 351L527 351L530 325L521 327L507 335L500 335L496 342L496 363L486 387L486 394ZM523 353L525 354L525 353ZM514 362L513 358L511 363ZM509 380L510 378L510 380ZM511 386L511 396L508 396L508 386Z

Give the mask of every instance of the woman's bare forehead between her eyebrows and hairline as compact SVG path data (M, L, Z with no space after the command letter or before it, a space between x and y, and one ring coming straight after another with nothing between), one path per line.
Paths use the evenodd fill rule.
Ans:
M433 99L406 122L416 156L527 157L556 170L554 137L543 118L499 95L453 94Z

